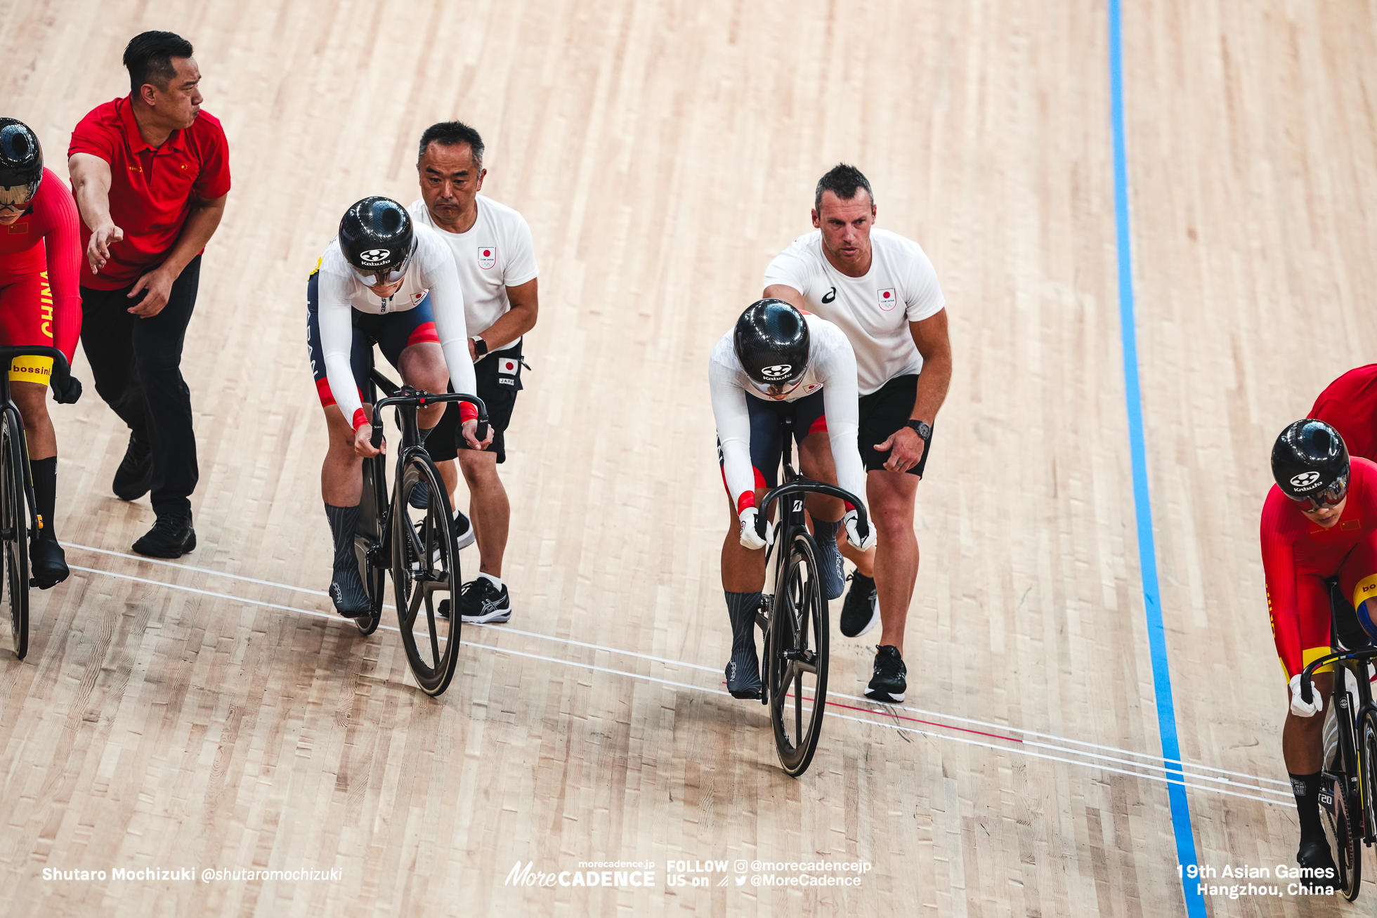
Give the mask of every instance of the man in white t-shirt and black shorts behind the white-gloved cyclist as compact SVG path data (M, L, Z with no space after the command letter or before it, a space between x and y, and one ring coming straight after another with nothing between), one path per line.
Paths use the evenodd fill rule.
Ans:
M861 460L879 530L856 563L841 610L841 633L880 622L866 696L902 702L903 626L918 579L913 505L927 465L932 421L952 381L946 300L917 242L876 230L874 195L861 171L837 165L818 182L815 233L799 237L766 270L764 296L793 303L841 328L856 355ZM870 571L869 575L866 571Z

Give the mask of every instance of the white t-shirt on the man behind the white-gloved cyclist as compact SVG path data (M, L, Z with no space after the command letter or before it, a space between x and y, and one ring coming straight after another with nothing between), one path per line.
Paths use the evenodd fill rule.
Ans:
M766 288L792 286L803 293L804 308L845 332L855 348L861 395L923 370L909 322L936 315L946 306L936 271L917 242L874 228L870 252L865 277L847 277L828 261L822 230L814 230L766 268Z

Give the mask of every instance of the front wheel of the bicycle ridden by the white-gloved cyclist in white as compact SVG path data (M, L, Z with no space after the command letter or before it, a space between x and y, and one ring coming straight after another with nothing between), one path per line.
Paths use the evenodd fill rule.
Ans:
M797 778L812 762L828 696L828 604L818 577L818 549L807 531L789 545L770 615L770 721L785 772Z

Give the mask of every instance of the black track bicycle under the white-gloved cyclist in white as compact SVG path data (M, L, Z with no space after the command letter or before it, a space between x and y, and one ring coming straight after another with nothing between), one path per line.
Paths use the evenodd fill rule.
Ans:
M818 544L804 520L804 500L808 494L825 494L851 504L862 537L870 523L865 505L851 491L795 471L792 418L781 420L779 434L784 483L764 495L756 513L756 531L766 538L770 508L779 502L779 524L766 549L766 584L756 623L764 632L760 702L770 707L779 764L785 773L797 778L808 769L818 749L828 698L828 600L818 574Z

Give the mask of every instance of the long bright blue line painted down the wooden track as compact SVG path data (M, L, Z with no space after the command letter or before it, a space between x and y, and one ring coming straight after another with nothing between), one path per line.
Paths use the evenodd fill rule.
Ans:
M1118 235L1120 334L1124 343L1124 401L1128 405L1128 439L1133 457L1133 509L1137 516L1137 555L1143 570L1143 606L1147 611L1147 640L1153 651L1153 687L1157 691L1157 727L1162 736L1162 764L1166 767L1166 796L1172 804L1176 831L1176 860L1194 866L1195 837L1191 809L1181 775L1181 751L1176 739L1176 709L1172 705L1172 673L1166 663L1166 634L1162 630L1162 593L1157 582L1157 546L1153 541L1153 505L1147 494L1147 456L1143 449L1143 395L1137 378L1137 330L1133 321L1133 252L1128 223L1128 165L1124 154L1124 52L1120 29L1120 0L1110 4L1110 117L1114 122L1114 217ZM1184 873L1184 871L1183 871ZM1205 917L1205 897L1197 882L1181 878L1186 914Z

